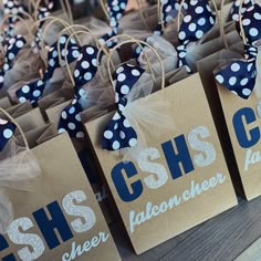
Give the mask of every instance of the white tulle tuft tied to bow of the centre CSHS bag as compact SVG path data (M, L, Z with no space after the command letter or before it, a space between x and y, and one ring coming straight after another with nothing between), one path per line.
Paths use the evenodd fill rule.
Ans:
M152 94L154 82L149 73L144 73L138 82L134 85L130 93L127 95L127 106L123 115L128 119L132 127L137 134L137 145L132 148L119 149L116 154L123 157L124 161L136 160L139 153L147 147L147 136L158 137L159 125L161 132L175 129L171 114L163 114L161 112L171 112L171 104L166 101L152 102L148 96ZM143 102L138 102L143 98Z

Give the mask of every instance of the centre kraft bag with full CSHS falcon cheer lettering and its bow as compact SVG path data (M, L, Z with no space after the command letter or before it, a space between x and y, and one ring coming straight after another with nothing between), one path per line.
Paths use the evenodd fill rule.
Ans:
M117 67L117 111L85 124L137 254L237 205L199 75L149 95L143 73Z

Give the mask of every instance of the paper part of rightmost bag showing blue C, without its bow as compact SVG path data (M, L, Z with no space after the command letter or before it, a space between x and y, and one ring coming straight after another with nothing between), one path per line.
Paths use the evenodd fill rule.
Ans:
M248 100L243 100L226 87L216 85L213 71L220 61L226 63L231 59L241 59L241 55L222 51L198 62L198 69L237 192L251 200L261 195L260 149L257 138L261 123L259 98L252 94Z

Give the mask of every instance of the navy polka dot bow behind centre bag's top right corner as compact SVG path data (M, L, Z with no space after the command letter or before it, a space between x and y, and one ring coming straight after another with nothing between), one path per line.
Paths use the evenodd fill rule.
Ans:
M177 48L179 63L178 66L185 66L188 73L192 70L187 63L187 46L191 42L197 42L212 29L216 21L216 15L210 9L208 1L205 0L190 0L186 15L182 19L178 40L179 46Z

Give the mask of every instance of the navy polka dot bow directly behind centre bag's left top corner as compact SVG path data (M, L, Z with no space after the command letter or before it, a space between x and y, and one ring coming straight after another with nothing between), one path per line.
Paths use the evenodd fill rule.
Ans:
M74 70L75 81L75 97L72 103L66 106L60 117L59 133L67 132L70 137L84 138L85 132L81 121L80 113L83 107L80 103L82 97L86 98L86 93L82 86L88 83L97 72L97 56L98 50L92 45L84 45L77 59Z

